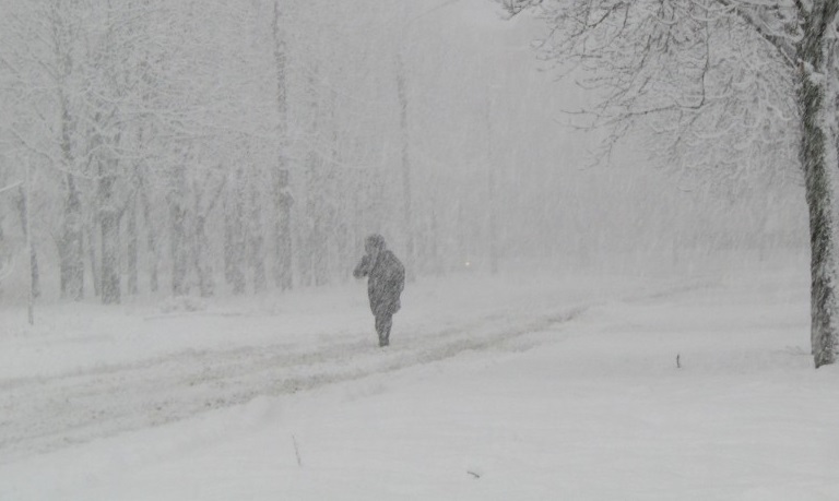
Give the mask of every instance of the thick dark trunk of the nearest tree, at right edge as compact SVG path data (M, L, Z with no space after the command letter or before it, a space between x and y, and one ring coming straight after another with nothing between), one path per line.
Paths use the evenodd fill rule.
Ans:
M834 188L830 170L837 167L836 88L831 50L824 25L836 16L836 2L813 9L799 46L801 61L797 102L802 120L800 146L810 210L811 342L816 368L836 361L837 274Z

